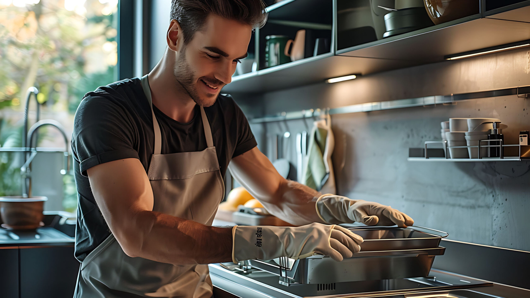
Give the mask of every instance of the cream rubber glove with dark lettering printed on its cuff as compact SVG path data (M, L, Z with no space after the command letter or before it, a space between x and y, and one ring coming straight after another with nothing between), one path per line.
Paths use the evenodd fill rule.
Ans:
M363 238L338 225L312 223L297 227L244 226L232 228L232 260L271 260L279 257L303 259L314 253L335 261L350 258L360 250Z

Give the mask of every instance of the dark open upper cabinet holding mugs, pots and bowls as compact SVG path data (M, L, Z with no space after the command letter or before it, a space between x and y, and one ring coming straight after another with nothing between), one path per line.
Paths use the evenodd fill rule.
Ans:
M459 0L444 2L448 5L444 7L436 3L284 0L272 4L267 24L255 31L249 47L254 51L254 71L248 68L233 76L223 91L288 89L530 42L526 42L530 1Z

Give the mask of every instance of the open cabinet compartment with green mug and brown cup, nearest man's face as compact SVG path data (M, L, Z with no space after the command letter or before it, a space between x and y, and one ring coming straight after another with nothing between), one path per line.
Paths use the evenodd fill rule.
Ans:
M334 54L333 5L333 0L283 0L268 6L267 23L249 45L252 58L238 65L244 71L236 71L223 91L260 92L320 80L310 65Z

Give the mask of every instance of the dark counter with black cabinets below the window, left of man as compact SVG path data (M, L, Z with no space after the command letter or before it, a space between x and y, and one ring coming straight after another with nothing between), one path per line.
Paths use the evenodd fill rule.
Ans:
M70 298L81 263L74 257L75 221L45 214L36 230L0 228L2 298Z

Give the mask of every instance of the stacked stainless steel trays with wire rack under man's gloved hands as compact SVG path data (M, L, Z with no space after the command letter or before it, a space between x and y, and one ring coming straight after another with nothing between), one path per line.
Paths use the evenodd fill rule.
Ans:
M315 255L305 259L248 260L240 263L279 276L282 285L328 284L425 277L436 256L443 255L439 247L448 234L426 227L352 227L362 236L361 251L341 262Z

